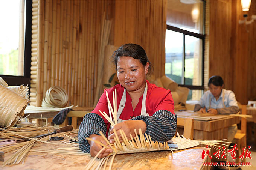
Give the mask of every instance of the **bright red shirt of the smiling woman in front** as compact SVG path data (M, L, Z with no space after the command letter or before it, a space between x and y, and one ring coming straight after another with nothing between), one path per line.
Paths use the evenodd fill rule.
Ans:
M158 110L168 110L174 114L174 101L172 99L171 91L161 87L157 87L155 84L149 83L148 80L146 80L146 83L148 83L148 91L146 96L146 113L148 113L149 116L152 116ZM117 111L118 111L119 104L124 91L124 87L121 84L117 84L116 86L110 89L104 89L104 93L101 95L101 98L99 99L98 104L92 111L92 113L99 114L99 116L101 116L102 119L104 119L104 122L106 124L108 123L108 121L107 119L105 119L104 116L102 116L99 110L101 110L102 112L105 111L105 113L109 115L106 91L108 92L108 98L113 108L112 92L115 89L117 93L116 98L117 98ZM131 97L129 93L126 92L125 107L123 108L123 111L119 118L122 120L128 120L128 119L131 119L133 116L134 117L139 116L141 114L142 98L143 98L143 94L142 96L140 96L139 102L133 111L133 107L131 104L131 101L132 101Z

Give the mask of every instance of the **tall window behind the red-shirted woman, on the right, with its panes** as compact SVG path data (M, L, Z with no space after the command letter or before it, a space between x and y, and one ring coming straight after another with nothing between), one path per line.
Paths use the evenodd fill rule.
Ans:
M204 6L201 0L168 0L165 75L198 100L203 86Z

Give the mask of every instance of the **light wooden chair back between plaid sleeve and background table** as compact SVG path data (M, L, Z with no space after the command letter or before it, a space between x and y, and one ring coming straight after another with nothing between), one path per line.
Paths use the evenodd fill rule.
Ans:
M190 117L177 117L177 126L184 126L183 136L193 139L194 119Z

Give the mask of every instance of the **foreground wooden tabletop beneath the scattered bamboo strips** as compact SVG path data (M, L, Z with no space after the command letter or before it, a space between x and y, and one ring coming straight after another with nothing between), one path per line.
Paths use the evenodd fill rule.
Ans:
M52 142L60 143L60 141ZM33 149L49 149L55 146L56 145L40 143L37 146L34 146ZM194 147L191 149L175 151L174 154L169 151L161 151L117 155L114 159L112 170L209 169L210 166L204 167L202 165L202 162L210 162L210 159L207 155L204 159L201 158L204 149L204 147ZM5 159L8 159L10 155L10 153L6 153ZM210 153L210 155L212 155L212 153ZM24 164L12 166L7 165L5 167L2 167L3 163L0 162L0 167L2 170L78 170L84 169L85 165L87 165L90 160L91 157L89 156L41 153L30 151ZM110 160L111 159L109 159L109 161ZM108 169L108 166L106 169Z

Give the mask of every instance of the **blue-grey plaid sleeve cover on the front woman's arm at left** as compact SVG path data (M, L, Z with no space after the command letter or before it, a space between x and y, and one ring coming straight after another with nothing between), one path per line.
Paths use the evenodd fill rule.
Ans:
M107 132L107 126L102 117L96 113L86 114L79 126L78 132L79 148L82 152L90 153L90 144L85 138L89 137L91 134L100 135L100 131L102 131L103 134Z

